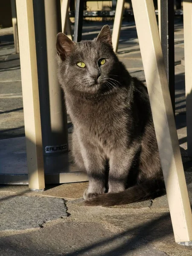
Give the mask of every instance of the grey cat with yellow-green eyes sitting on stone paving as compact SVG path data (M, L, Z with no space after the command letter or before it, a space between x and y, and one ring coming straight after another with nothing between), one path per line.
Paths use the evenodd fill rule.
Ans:
M86 171L87 205L143 201L165 191L147 89L113 52L103 26L93 41L57 35L58 78L73 122L73 157Z

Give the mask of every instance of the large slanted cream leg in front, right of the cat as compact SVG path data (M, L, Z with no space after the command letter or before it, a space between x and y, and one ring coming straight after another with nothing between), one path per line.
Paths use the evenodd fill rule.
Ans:
M153 0L132 0L175 241L192 241L192 212Z

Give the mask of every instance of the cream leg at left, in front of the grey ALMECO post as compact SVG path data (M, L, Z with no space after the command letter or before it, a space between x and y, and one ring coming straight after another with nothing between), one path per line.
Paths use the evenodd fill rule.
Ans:
M32 0L16 0L29 188L43 190L44 158Z

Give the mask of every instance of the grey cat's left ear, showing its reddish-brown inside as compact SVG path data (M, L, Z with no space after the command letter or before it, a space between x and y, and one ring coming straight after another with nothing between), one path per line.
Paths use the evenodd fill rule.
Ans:
M56 38L56 49L57 54L61 58L61 60L65 60L67 55L70 55L71 50L73 49L73 46L75 43L71 41L67 35L63 33L58 33Z

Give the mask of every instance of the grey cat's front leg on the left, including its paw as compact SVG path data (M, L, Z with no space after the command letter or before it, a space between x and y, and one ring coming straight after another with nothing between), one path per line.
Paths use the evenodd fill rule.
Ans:
M81 153L89 178L89 186L85 189L83 198L88 199L104 194L106 160L102 152L93 145L84 145Z

